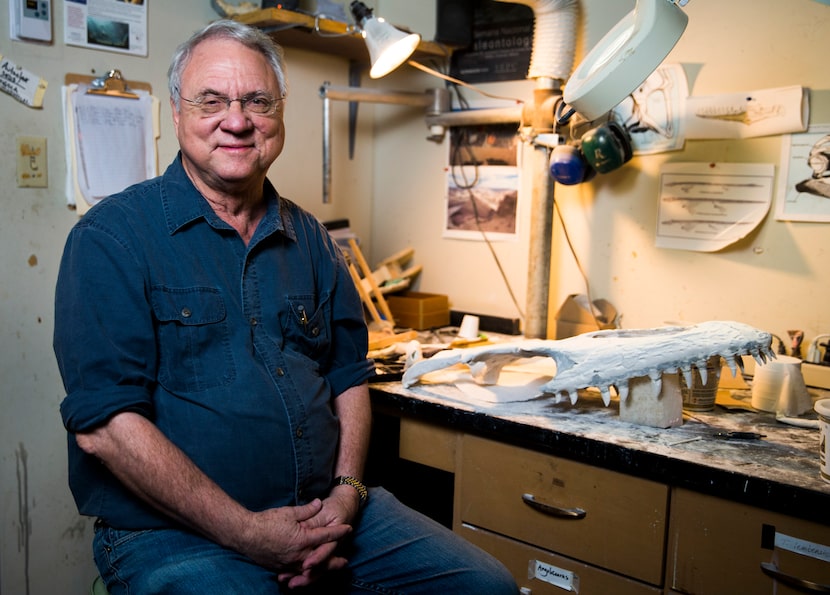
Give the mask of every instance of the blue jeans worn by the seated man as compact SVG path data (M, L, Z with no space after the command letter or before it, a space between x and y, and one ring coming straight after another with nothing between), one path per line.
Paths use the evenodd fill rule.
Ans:
M495 558L442 525L372 488L346 544L349 566L308 589L289 590L277 574L198 535L175 529L95 532L95 563L111 595L515 595Z

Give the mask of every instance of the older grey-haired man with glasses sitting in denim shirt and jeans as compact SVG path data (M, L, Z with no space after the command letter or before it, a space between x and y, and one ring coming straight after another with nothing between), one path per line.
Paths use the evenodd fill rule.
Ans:
M280 49L219 21L169 71L177 159L72 230L55 352L70 486L118 593L515 593L361 482L363 311L325 229L266 179Z

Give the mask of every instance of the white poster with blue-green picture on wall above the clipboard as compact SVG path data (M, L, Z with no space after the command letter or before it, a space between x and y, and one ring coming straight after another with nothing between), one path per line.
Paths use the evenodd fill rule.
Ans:
M64 43L147 55L145 0L64 0Z

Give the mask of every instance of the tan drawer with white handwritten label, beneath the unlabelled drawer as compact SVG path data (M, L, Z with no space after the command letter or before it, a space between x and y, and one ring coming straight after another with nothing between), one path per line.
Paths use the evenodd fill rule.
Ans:
M532 595L660 595L659 587L647 585L595 568L570 558L529 546L507 537L470 525L462 525L458 533L484 551L490 552L516 578L519 588Z

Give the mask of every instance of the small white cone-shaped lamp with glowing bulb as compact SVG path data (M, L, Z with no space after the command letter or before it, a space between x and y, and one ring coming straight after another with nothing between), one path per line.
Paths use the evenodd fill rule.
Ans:
M372 9L363 2L355 0L349 8L362 29L371 63L369 76L373 79L386 76L403 64L421 42L421 36L417 33L404 33L384 19L375 17Z

